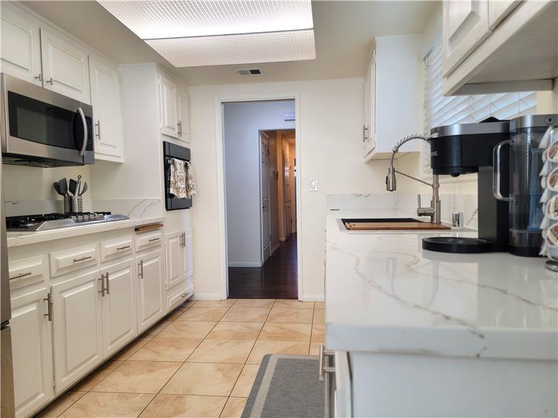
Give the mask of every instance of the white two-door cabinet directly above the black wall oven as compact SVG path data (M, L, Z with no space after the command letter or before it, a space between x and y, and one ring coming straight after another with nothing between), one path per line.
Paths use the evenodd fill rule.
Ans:
M178 84L166 75L159 73L158 77L161 133L189 143L188 95L179 90Z

